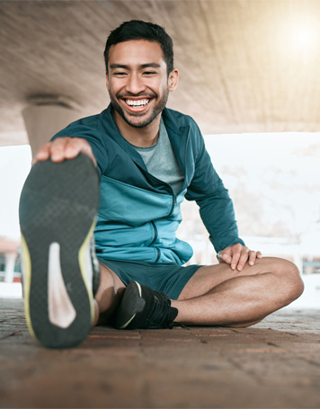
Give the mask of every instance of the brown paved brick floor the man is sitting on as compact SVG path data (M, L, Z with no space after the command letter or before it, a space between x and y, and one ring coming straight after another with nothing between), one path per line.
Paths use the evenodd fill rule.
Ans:
M320 310L246 329L97 327L73 350L32 341L0 299L1 408L319 408Z

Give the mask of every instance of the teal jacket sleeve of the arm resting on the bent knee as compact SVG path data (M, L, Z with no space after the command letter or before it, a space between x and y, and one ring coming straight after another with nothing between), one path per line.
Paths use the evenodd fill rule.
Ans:
M211 163L199 129L196 145L198 154L194 175L185 197L187 200L196 200L199 205L200 217L217 253L228 245L244 245L238 236L232 200Z

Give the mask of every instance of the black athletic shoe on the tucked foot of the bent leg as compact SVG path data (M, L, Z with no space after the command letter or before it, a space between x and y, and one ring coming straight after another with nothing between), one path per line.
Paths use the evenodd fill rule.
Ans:
M170 298L137 281L129 282L117 311L116 328L173 328L177 308L171 307Z

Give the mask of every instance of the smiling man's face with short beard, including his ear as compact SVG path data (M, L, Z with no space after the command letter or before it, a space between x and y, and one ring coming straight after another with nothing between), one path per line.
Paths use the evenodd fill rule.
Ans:
M111 103L131 127L144 128L155 120L177 80L177 70L168 78L158 42L129 40L109 50L107 86Z

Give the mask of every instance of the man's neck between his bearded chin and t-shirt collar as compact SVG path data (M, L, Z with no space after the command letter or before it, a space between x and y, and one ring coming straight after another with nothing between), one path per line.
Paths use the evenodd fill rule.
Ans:
M134 128L123 120L117 111L114 111L114 120L120 130L120 134L136 147L151 147L156 144L159 138L160 119L161 113L147 127Z

